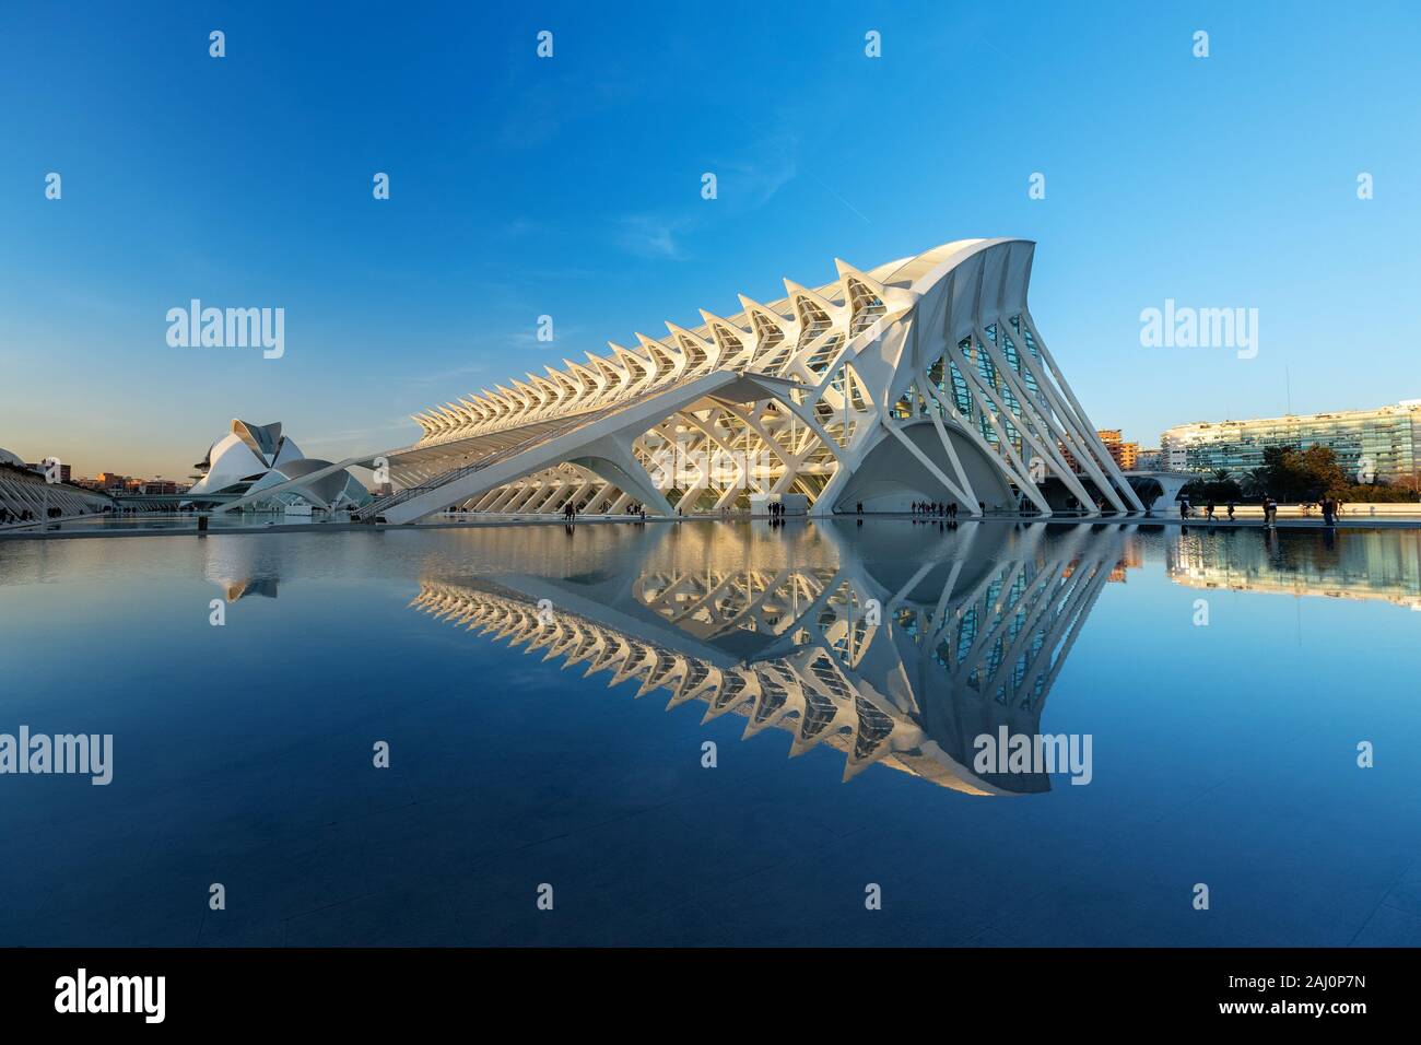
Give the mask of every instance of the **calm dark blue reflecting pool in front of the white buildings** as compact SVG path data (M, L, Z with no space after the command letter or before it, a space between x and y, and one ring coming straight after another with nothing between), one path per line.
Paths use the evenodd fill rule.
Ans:
M1415 945L1418 610L1404 529L0 543L0 759L112 736L0 773L0 945Z

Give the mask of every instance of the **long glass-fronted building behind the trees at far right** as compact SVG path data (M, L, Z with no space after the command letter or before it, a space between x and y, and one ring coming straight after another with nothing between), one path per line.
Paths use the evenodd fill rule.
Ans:
M1187 472L1225 471L1239 479L1263 463L1269 446L1331 446L1346 472L1370 468L1395 482L1421 475L1421 400L1377 409L1307 414L1259 421L1177 425L1160 436L1161 451Z

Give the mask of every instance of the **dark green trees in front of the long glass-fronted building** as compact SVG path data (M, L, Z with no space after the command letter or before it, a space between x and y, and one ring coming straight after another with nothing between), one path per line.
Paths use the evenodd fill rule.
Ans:
M1242 482L1231 479L1221 469L1212 478L1195 479L1184 488L1184 493L1194 503L1256 500L1265 493L1283 502L1322 500L1330 496L1350 503L1380 503L1417 500L1417 485L1414 479L1398 483L1384 479L1357 482L1357 476L1349 475L1337 463L1331 446L1268 446L1263 463L1243 476Z

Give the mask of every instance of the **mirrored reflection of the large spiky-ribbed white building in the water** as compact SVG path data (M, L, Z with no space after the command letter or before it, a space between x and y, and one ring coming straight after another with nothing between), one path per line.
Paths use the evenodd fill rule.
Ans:
M973 741L1040 732L1125 545L1120 526L1050 529L898 526L865 556L827 523L762 557L719 527L666 527L639 569L429 576L411 606L638 695L669 691L668 708L742 717L746 738L787 731L791 755L826 744L845 779L878 763L973 795L1042 792L1044 773L975 772Z

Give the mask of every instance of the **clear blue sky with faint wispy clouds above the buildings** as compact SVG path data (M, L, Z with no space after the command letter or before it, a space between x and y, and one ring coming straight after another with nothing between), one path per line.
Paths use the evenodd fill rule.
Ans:
M1414 3L9 3L0 446L175 476L240 417L338 459L968 236L1039 242L1033 316L1127 438L1421 397L1418 51ZM283 307L284 357L169 347L193 297ZM1258 357L1142 348L1168 297L1256 307Z

